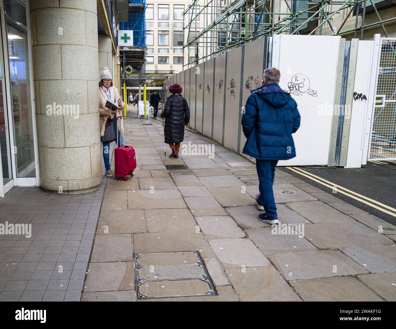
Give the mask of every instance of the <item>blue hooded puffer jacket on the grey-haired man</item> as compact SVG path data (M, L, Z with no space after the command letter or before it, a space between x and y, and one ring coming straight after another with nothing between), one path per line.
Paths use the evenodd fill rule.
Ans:
M258 160L288 160L296 156L293 137L300 126L297 103L276 83L251 91L242 126L243 153Z

